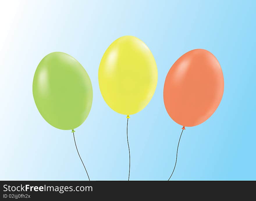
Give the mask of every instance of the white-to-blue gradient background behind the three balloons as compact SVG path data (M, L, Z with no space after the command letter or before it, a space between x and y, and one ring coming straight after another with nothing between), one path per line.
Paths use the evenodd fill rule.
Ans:
M40 60L62 51L93 85L93 105L76 129L91 180L127 180L124 115L104 102L98 67L118 37L134 35L152 51L158 84L129 120L130 180L167 180L182 126L167 114L163 85L172 64L202 48L221 64L225 89L216 112L187 128L172 180L256 180L255 1L17 1L0 3L0 179L87 180L70 131L39 114L32 81Z

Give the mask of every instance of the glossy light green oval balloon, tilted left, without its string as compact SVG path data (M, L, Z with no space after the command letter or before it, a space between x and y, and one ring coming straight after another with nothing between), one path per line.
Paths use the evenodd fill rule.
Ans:
M33 96L45 121L62 130L73 130L90 112L93 87L87 72L76 59L63 52L53 52L38 64Z

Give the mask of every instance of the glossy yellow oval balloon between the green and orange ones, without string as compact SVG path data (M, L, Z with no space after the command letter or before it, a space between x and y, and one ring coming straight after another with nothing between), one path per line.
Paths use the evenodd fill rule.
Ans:
M99 88L112 110L125 115L141 111L157 87L157 64L150 49L134 36L115 40L99 65Z

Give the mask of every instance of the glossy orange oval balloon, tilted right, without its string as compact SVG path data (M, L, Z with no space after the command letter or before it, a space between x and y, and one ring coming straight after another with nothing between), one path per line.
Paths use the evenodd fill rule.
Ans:
M224 78L216 57L195 49L182 55L170 68L164 83L166 111L178 124L195 126L217 109L224 91Z

